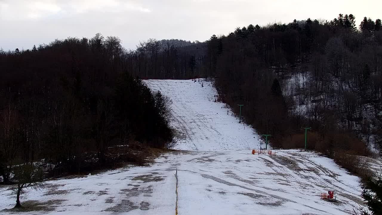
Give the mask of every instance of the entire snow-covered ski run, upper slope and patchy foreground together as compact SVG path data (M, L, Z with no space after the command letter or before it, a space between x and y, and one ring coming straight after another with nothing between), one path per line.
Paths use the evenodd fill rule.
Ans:
M2 186L0 214L175 214L176 170L179 215L348 215L363 205L359 178L327 157L302 150L252 155L249 148L257 149L261 140L215 102L210 82L146 83L172 98L171 125L183 150L147 166L47 181L43 189L21 195L21 210L10 209L15 194ZM332 189L337 202L320 199Z

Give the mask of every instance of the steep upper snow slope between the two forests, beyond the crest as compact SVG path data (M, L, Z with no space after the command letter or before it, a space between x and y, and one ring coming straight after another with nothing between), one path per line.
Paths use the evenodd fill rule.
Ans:
M225 104L215 102L217 91L211 82L200 79L147 80L145 83L173 101L171 125L178 132L176 149L211 151L259 147L259 137L254 130L239 124L239 119Z

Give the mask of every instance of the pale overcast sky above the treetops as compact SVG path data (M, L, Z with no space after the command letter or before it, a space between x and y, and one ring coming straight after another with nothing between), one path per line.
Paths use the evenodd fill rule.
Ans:
M118 36L127 49L149 38L205 41L238 26L352 13L382 18L380 0L0 0L0 47L30 49L54 39Z

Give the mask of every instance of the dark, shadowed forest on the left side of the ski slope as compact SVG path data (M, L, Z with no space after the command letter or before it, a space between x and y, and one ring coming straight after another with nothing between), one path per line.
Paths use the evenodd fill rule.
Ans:
M171 101L129 70L118 37L0 52L0 172L45 159L51 175L110 164L108 149L172 141Z

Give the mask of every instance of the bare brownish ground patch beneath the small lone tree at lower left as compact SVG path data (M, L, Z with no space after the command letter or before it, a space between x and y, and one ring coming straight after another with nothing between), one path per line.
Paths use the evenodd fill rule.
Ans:
M31 212L31 211L44 211L49 212L55 210L57 205L62 204L62 202L67 201L66 199L54 199L46 202L40 202L37 200L28 200L21 202L21 208L10 208L4 209L2 211L10 213L21 213L21 212Z

